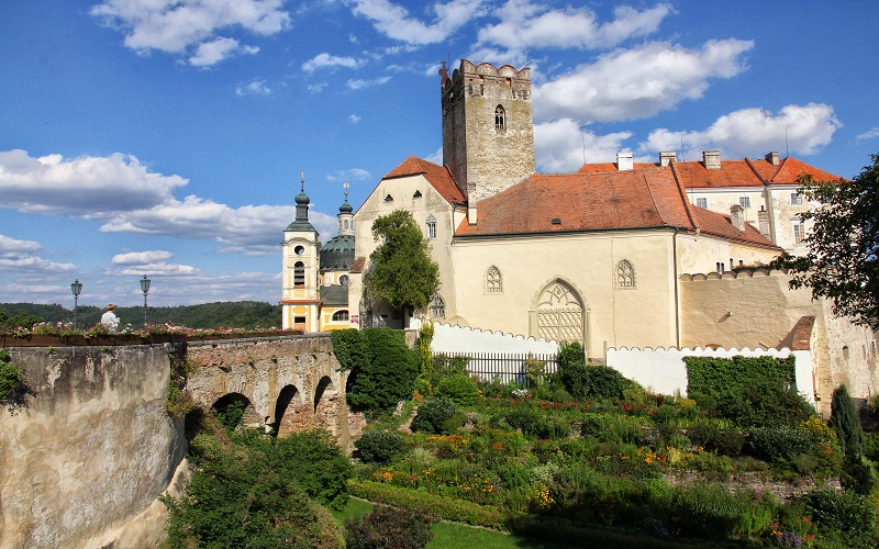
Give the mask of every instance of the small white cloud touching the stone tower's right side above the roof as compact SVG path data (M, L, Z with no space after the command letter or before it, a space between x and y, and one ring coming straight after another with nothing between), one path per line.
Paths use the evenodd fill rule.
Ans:
M587 163L616 160L622 143L631 132L596 135L570 119L544 122L534 126L534 156L541 171L570 172Z

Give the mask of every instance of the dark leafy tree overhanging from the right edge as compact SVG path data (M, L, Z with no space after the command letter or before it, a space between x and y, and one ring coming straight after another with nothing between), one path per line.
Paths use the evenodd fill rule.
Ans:
M801 177L802 194L822 205L801 214L814 222L804 257L785 256L776 266L792 271L791 288L808 287L828 298L833 312L879 328L879 155L850 181Z

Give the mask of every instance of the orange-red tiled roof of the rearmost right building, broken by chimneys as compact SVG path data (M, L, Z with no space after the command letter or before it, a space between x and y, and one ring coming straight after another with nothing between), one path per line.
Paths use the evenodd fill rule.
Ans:
M635 163L634 169L658 168L658 164ZM681 184L687 189L720 189L727 187L763 187L764 180L775 184L797 183L803 173L817 181L838 181L842 178L815 168L802 160L788 157L774 166L766 159L721 160L721 169L705 169L698 160L676 161L675 167ZM599 173L617 171L614 163L585 164L578 173Z

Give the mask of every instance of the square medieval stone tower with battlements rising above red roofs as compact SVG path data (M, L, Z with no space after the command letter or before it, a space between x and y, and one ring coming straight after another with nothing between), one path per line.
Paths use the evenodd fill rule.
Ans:
M477 203L534 173L531 69L461 59L452 77L443 64L443 164Z

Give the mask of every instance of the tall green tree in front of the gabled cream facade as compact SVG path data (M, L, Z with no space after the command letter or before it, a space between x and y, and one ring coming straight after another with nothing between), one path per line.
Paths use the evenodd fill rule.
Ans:
M439 267L412 214L396 210L378 217L372 236L379 246L369 255L369 293L392 310L426 307L439 289Z

